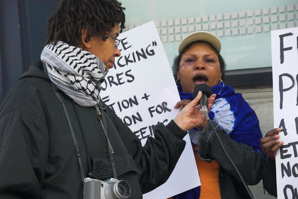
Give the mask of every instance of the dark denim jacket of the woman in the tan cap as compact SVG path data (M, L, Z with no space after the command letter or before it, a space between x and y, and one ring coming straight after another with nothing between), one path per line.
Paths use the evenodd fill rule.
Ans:
M239 170L244 182L247 185L258 184L264 173L265 163L261 154L250 146L237 143L212 122L225 150ZM222 199L245 199L249 198L235 168L224 153L224 150L214 130L208 124L201 132L198 148L199 157L207 162L216 160L220 165L219 182Z

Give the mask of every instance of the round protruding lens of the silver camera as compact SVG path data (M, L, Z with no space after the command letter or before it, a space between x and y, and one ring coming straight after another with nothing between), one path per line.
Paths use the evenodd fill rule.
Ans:
M130 196L130 186L124 180L111 184L106 188L108 199L127 199Z

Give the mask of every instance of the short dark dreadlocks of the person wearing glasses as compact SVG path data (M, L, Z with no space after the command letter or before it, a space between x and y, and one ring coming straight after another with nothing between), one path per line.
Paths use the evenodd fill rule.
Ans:
M125 28L125 8L117 0L62 0L48 19L48 40L45 45L63 41L69 45L81 44L81 30L86 29L86 42L92 36L105 41L116 24L120 32Z

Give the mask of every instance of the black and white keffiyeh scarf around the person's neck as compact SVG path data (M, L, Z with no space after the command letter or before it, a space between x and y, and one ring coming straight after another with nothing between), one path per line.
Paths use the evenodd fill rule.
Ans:
M51 81L76 103L82 106L99 103L107 70L97 56L59 41L55 46L45 46L40 57Z

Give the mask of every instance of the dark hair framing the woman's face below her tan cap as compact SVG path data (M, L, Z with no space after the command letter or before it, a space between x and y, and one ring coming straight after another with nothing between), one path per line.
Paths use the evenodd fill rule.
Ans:
M180 61L181 61L181 58L182 58L182 55L185 53L185 51L194 43L200 43L200 42L205 42L205 41L196 41L196 42L193 42L191 44L189 44L184 50L182 50L182 52L180 54L178 54L177 56L175 56L174 58L174 62L173 62L173 65L172 65L172 72L175 76L175 79L177 79L176 75L179 71L179 65L180 65ZM220 62L220 69L221 69L221 72L222 72L222 80L224 80L224 71L225 71L225 61L224 61L224 58L223 56L219 53L218 50L216 50L214 48L214 46L212 46L210 43L208 42L205 42L207 44L209 44L209 46L216 52L218 58L219 58L219 62Z

